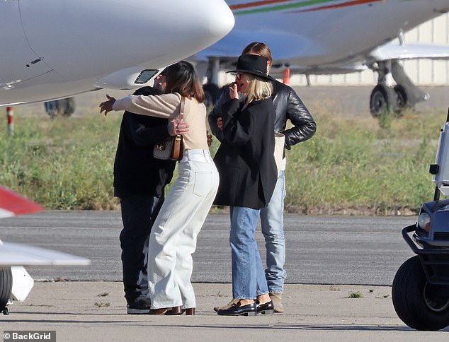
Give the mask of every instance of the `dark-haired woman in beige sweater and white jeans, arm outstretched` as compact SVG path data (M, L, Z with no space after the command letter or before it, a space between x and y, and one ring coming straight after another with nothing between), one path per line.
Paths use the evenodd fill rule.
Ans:
M166 196L149 238L148 279L153 314L195 313L191 285L191 254L196 238L215 199L218 172L210 157L204 93L193 66L180 61L167 67L163 95L135 96L115 100L108 96L101 112L128 110L135 114L175 119L185 98L183 158L178 179Z

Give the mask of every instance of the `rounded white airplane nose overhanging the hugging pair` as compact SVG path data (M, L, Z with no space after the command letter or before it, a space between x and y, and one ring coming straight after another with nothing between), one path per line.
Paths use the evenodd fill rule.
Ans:
M144 69L191 57L234 26L224 0L13 2L8 8L15 10L17 28L8 33L16 33L9 38L16 44L10 58L16 69L6 81L35 99L96 87L135 88ZM21 102L20 94L14 96L7 103Z

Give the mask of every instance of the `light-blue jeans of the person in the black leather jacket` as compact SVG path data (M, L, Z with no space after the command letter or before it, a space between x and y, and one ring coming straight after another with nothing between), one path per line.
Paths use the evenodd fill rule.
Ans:
M285 280L284 199L285 172L279 171L278 181L268 207L261 209L262 234L265 237L265 276L270 293L281 293Z

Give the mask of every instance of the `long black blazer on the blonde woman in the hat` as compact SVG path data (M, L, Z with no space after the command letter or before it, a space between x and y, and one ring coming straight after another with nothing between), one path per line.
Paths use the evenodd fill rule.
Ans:
M224 139L214 158L220 173L214 204L264 208L278 178L273 102L254 101L244 110L239 106L237 99L222 105Z

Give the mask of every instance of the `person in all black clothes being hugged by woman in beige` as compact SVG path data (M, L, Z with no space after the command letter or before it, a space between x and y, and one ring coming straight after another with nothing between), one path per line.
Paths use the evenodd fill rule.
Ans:
M134 95L157 95L163 86L164 76L159 74L153 87L140 88ZM176 163L154 158L153 147L169 135L186 131L188 125L177 119L169 124L167 119L127 111L123 114L114 162L114 196L120 198L123 220L120 247L128 314L150 312L149 232L164 203L164 187L171 181Z

